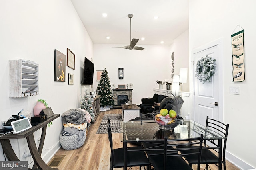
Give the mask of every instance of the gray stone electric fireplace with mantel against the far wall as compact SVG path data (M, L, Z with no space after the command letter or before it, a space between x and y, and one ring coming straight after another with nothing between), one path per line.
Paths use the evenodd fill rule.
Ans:
M120 106L128 100L132 103L132 89L113 89L114 105Z

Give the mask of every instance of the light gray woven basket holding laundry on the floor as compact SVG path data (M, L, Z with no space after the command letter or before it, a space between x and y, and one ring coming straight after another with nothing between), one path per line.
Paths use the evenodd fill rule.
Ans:
M65 150L72 150L80 148L82 145L84 145L84 141L86 139L86 134L78 140L78 135L65 135L62 136L60 134L60 145Z

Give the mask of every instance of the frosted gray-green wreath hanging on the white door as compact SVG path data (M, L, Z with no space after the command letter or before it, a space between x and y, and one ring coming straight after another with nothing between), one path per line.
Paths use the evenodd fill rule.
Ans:
M196 78L200 81L203 82L211 82L212 81L212 76L215 74L215 59L212 59L212 57L202 57L197 61L196 64Z

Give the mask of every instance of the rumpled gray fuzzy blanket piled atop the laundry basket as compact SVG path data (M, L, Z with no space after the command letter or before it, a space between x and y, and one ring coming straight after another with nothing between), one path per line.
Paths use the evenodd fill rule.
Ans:
M78 109L69 109L61 115L62 123L73 123L76 125L86 122L84 113Z

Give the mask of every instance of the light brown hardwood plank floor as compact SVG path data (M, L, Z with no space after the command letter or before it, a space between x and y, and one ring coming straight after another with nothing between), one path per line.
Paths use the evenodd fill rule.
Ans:
M121 114L121 109L100 112L96 122L90 125L84 145L74 150L60 148L55 156L64 155L65 157L58 166L52 168L58 168L59 170L109 170L110 144L108 134L96 134L104 114ZM123 147L123 143L120 141L120 133L113 133L112 137L113 148ZM128 146L131 145L128 144ZM204 168L205 165L202 164L200 170L204 170ZM218 170L215 165L210 165L210 168L211 170ZM117 168L117 170L121 169ZM193 169L197 169L196 165L193 165ZM132 167L132 170L139 170L139 167ZM226 162L226 170L239 170L239 168L230 162Z

